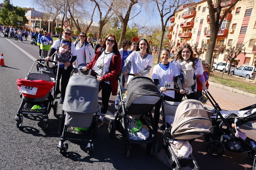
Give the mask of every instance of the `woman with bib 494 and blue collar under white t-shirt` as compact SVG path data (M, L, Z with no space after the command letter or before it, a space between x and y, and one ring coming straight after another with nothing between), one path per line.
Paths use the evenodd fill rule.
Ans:
M170 58L170 50L164 48L161 50L160 55L162 62L159 62L154 66L152 80L154 80L159 91L163 91L164 100L174 101L175 91L166 89L174 88L175 78L180 89L180 94L185 93L180 80L180 73L174 63L168 62L168 59ZM156 128L158 127L161 103L162 101L160 99L155 105L154 122Z

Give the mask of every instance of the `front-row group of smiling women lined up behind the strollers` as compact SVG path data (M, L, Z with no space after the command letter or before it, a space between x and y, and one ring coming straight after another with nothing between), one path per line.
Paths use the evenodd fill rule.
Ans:
M102 47L98 48L94 54L94 50L90 43L86 40L86 34L81 32L79 40L74 44L71 43L71 30L65 29L63 31L64 38L56 40L51 46L48 56L45 61L50 59L60 44L65 43L71 46L71 58L69 62L59 62L59 80L61 77L61 95L59 103L63 103L66 87L69 81L71 71L77 68L80 63L87 63L87 66L82 67L82 70L87 69L95 70L99 74L97 80L99 83L99 91L102 93L102 106L100 110L99 124L103 124L103 119L108 110L109 98L112 93L113 96L118 91L117 76L120 72L124 76L127 75L127 71L130 69L130 73L134 76L147 76L149 77L150 69L153 67L153 56L149 54L149 44L146 39L142 38L137 44L131 43L129 40L124 40L122 43L122 49L118 50L118 44L114 34L109 34L105 37L102 42ZM132 45L132 47L131 47ZM128 48L131 47L131 51ZM120 54L121 53L121 54ZM128 55L127 55L128 54ZM206 80L204 76L204 67L198 58L193 57L193 50L189 45L184 45L176 55L176 62L168 62L170 57L170 51L168 49L162 49L161 51L161 62L156 64L153 69L152 80L155 85L159 88L159 91L163 91L164 100L168 101L181 101L181 96L185 93L183 83L180 79L180 62L193 62L192 67L194 68L195 74L198 75L199 82L201 83L202 90L207 90ZM67 67L67 69L64 69ZM132 77L129 76L127 85ZM196 81L195 81L196 83ZM167 84L167 86L166 86ZM124 86L124 82L122 82ZM174 87L176 85L176 87ZM174 91L168 91L168 88L180 89L179 93ZM197 99L196 91L187 95L188 99ZM155 125L158 126L159 113L160 113L161 101L155 106L154 120Z

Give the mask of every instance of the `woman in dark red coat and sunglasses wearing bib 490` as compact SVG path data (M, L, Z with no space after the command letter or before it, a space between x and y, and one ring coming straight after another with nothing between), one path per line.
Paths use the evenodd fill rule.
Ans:
M117 93L117 75L120 73L121 63L116 37L114 34L109 34L103 41L102 48L96 51L92 61L86 67L82 67L84 71L92 69L99 74L97 80L100 82L99 91L102 90L102 106L98 127L103 124L103 118L108 111L111 92L113 96Z

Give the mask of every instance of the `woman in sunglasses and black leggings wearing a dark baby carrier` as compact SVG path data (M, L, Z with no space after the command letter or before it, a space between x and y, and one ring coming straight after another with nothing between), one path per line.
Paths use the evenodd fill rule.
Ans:
M50 57L55 53L56 50L59 51L59 47L61 47L61 45L63 43L68 45L68 48L70 49L70 59L69 62L59 62L59 73L58 73L58 80L57 80L57 90L56 90L56 95L59 93L59 85L60 85L60 77L61 77L61 94L60 94L60 100L59 103L63 103L64 98L65 98L65 93L66 93L66 87L68 85L68 81L70 78L70 74L73 70L73 66L72 63L74 61L76 61L77 59L77 53L76 53L76 48L74 46L74 44L72 43L72 36L71 36L72 31L70 29L65 29L63 31L63 39L58 39L56 40L53 45L51 46L51 49L49 50L49 55L45 58L45 61L50 60ZM57 54L58 55L58 51ZM56 61L56 57L54 59ZM67 69L65 69L65 67ZM56 97L55 95L55 97Z

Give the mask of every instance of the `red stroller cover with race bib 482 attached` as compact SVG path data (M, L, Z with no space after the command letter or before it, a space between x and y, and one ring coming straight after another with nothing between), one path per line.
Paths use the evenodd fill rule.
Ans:
M22 93L27 98L41 98L41 97L44 97L47 93L49 93L51 88L53 86L55 86L54 82L48 82L48 81L45 81L45 80L32 80L32 81L30 81L30 80L26 80L26 79L17 79L16 82L17 82L19 90L22 88L21 86L25 86L23 88L28 89L28 90L26 90L26 91L28 91L28 93L33 93L33 91L36 92L35 95ZM33 91L31 90L31 87L34 88ZM30 91L29 91L29 89L30 89ZM35 90L35 89L37 89L37 90Z

